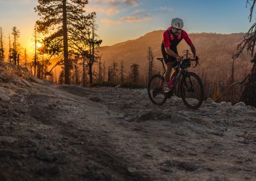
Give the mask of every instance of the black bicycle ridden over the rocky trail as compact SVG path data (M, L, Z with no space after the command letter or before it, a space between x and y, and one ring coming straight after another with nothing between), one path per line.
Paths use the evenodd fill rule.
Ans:
M188 71L192 61L195 61L193 68L200 64L199 61L188 58L188 56L186 59L178 61L175 68L180 69L180 71L175 76L173 88L169 92L164 92L164 75L167 69L164 67L163 58L157 58L157 60L162 62L164 70L162 75L153 75L148 81L148 96L150 101L155 105L163 105L167 98L172 97L173 91L179 83L178 92L180 92L183 103L191 109L200 107L204 100L204 86L202 80L196 73ZM181 80L180 77L182 77Z

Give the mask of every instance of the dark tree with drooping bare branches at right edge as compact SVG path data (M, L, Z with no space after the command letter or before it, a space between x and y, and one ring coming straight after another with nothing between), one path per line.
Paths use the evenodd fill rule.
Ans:
M252 21L252 13L255 8L256 0L246 0L246 6L250 5L250 22ZM249 31L245 34L243 41L237 46L237 54L235 57L239 57L246 49L248 54L252 57L252 69L250 74L246 77L244 82L244 91L242 99L246 105L256 106L256 53L255 53L255 43L256 43L256 22L250 27Z

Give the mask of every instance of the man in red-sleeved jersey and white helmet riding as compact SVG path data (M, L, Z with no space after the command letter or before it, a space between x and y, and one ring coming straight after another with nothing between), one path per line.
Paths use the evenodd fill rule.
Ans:
M182 39L184 39L188 43L189 47L191 48L191 52L194 55L194 58L198 59L198 57L196 56L196 48L193 45L192 41L190 40L188 33L182 30L183 25L184 24L182 19L173 18L171 26L168 27L168 29L164 31L163 34L163 43L161 45L161 51L163 54L164 62L167 67L167 71L164 77L164 92L170 91L168 82L170 80L172 68L177 66L177 61L182 60L182 57L179 56L177 51L177 45L179 45ZM177 75L178 73L179 70L175 69L172 73L171 80L172 77Z

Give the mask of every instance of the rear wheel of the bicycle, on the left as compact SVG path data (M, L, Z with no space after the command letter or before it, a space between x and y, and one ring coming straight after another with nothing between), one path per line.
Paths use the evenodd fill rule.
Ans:
M148 82L148 97L155 105L163 105L167 96L164 94L164 78L161 75L153 75Z

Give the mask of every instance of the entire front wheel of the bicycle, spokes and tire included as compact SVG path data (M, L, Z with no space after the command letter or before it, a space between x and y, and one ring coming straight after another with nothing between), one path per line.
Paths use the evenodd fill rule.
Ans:
M204 100L202 80L193 72L186 72L180 82L180 97L188 108L196 109Z

